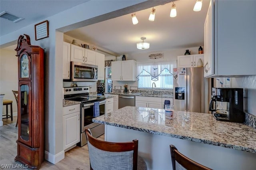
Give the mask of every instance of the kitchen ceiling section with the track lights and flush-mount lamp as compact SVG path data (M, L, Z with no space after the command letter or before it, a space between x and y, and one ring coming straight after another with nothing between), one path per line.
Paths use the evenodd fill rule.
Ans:
M196 0L177 0L177 16L170 18L171 3L155 6L155 21L148 20L152 8L136 12L139 23L132 24L131 14L92 24L65 34L119 54L144 53L204 45L204 21L210 0L203 0L202 10L194 12ZM141 37L149 49L137 49Z

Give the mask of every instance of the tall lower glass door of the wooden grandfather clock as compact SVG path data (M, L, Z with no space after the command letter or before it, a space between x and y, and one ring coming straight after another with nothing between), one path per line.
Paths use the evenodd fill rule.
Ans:
M20 138L30 141L30 82L20 84Z

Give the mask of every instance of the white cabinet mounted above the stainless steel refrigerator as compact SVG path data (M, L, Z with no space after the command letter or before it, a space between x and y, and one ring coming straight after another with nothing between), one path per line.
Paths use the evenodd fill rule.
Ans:
M177 67L198 67L198 59L201 59L204 63L204 54L179 55L177 57Z

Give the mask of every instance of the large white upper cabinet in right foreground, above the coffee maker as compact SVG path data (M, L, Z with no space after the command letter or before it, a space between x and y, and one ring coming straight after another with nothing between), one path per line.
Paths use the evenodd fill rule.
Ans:
M256 1L210 2L204 24L205 77L256 75Z

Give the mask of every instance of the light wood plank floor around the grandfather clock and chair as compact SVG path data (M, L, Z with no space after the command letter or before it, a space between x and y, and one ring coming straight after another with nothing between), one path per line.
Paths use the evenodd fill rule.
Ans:
M21 164L14 161L17 155L18 127L15 127L17 117L13 118L13 121L10 118L3 119L3 126L0 127L0 165ZM99 139L104 140L104 134ZM87 144L83 147L76 146L65 152L65 158L56 164L45 160L40 170L90 170Z

